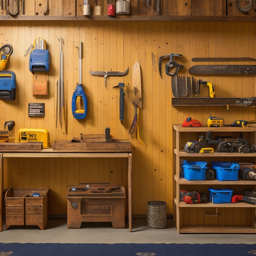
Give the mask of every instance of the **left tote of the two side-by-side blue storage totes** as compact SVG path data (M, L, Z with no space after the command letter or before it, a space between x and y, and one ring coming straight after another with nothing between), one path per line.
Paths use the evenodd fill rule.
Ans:
M183 177L188 181L206 180L207 162L188 162L183 160Z

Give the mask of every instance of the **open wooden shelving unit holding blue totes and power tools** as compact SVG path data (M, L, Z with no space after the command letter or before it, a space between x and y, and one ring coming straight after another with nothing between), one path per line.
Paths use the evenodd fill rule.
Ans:
M211 202L199 204L186 204L180 202L180 190L192 189L207 194L209 187L231 188L235 192L255 190L255 181L218 181L196 180L188 181L180 178L181 159L189 161L238 161L248 162L256 160L255 153L186 153L183 148L189 136L196 140L198 135L204 135L211 130L223 133L240 133L250 139L253 144L256 136L256 127L182 127L181 124L173 125L173 173L174 173L174 220L178 233L256 233L256 206L244 202L214 204ZM237 215L237 216L236 216ZM243 216L244 215L244 216Z

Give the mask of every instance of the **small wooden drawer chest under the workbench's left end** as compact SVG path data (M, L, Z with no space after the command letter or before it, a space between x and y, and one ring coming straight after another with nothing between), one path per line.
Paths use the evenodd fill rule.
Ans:
M5 194L5 229L12 225L35 225L45 229L49 189L10 187Z

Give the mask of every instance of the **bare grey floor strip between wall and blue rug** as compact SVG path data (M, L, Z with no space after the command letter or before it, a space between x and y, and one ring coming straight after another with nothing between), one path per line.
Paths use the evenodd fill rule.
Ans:
M0 232L0 243L256 244L256 234L178 234L172 219L168 219L167 228L152 229L146 225L146 218L134 218L133 232L113 229L107 222L67 229L66 219L49 219L45 230L11 226Z

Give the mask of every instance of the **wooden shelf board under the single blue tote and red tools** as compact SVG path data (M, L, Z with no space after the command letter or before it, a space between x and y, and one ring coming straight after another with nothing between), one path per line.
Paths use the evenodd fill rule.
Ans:
M185 202L178 202L176 198L174 198L174 203L177 207L183 208L256 208L256 205L247 204L244 202L237 203L228 203L228 204L214 204L212 202L207 203L199 203L199 204L186 204Z

